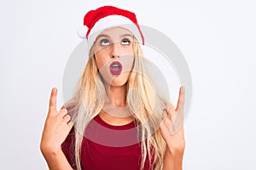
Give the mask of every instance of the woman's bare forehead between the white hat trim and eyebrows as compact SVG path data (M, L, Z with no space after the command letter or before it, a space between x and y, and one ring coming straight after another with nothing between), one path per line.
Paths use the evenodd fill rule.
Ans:
M133 37L133 34L131 33L131 31L129 31L123 27L108 28L108 29L102 31L98 35L98 37L101 37L102 35L112 37L112 38L118 38L118 37L123 37L123 36Z

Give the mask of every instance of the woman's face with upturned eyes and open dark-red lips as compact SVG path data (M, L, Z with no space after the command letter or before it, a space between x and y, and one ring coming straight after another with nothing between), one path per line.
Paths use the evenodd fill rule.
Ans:
M96 66L108 85L123 86L134 62L133 35L121 27L102 31L94 45Z

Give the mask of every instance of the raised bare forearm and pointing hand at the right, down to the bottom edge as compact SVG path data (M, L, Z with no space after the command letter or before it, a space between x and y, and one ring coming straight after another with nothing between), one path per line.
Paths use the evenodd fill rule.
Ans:
M167 149L164 156L164 170L183 169L183 153L185 150L185 139L183 129L183 107L185 102L185 88L181 87L179 90L179 97L177 107L172 104L167 107L167 116L164 122L160 125L163 138L166 140ZM177 133L170 135L171 132L182 125Z

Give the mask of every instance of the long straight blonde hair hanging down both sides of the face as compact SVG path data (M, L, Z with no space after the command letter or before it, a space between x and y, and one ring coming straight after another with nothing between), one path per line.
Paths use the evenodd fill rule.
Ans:
M133 51L135 55L133 70L127 81L126 105L133 113L133 117L140 128L143 169L147 156L152 169L162 169L163 156L166 151L166 142L160 133L160 122L162 112L166 102L154 91L154 86L147 75L147 68L143 61L143 52L136 38L133 41ZM73 98L67 101L65 106L68 112L72 113L72 121L76 128L74 139L74 159L76 167L81 170L80 156L81 145L85 127L102 110L106 90L99 77L96 67L93 48L90 49L90 58L84 67L78 87ZM140 94L132 93L134 90ZM129 91L131 90L131 91ZM140 99L140 101L138 101ZM137 105L140 103L140 105Z

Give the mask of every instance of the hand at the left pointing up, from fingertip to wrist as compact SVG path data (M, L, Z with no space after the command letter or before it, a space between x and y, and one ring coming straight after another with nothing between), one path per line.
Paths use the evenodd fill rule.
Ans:
M67 115L67 109L62 108L60 111L57 111L56 98L57 89L52 88L49 98L49 111L40 144L44 157L55 155L62 151L61 144L73 127L73 122L70 122L70 116Z

